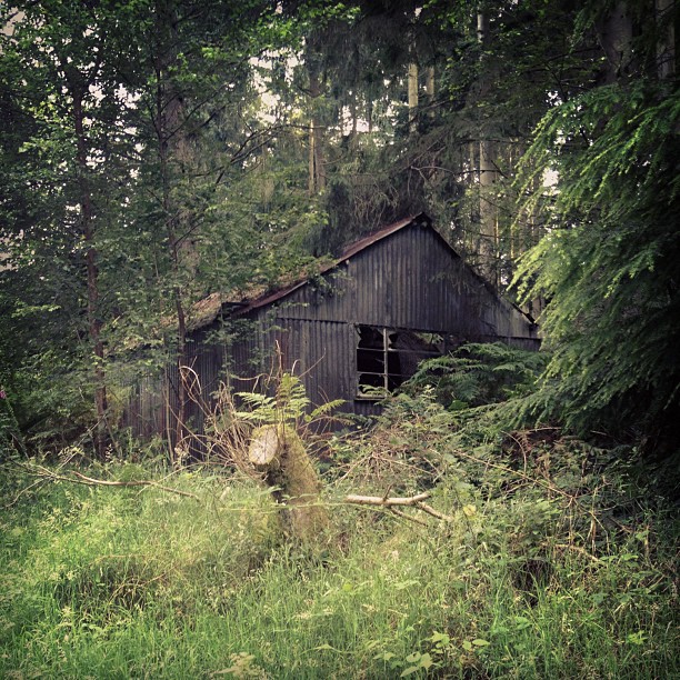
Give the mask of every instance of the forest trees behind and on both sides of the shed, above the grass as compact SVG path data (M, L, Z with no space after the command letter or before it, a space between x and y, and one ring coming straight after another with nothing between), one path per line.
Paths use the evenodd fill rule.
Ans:
M662 0L3 6L0 380L22 427L103 446L126 348L179 366L198 300L420 210L541 314L527 413L672 423L677 22Z

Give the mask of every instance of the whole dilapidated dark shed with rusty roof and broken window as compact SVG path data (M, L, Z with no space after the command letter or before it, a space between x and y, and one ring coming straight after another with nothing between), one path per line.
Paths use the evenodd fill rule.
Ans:
M242 320L240 340L220 341ZM233 337L233 336L231 336ZM418 362L466 341L538 349L537 327L468 267L424 213L384 227L348 247L319 274L247 300L204 301L191 333L191 366L209 394L230 376L237 391L267 372L280 347L284 370L301 376L312 403L343 399L344 411L378 412L376 388L398 388ZM237 378L238 377L238 378ZM140 387L128 422L142 437L167 429L158 389ZM163 399L159 396L164 392ZM168 400L169 397L169 400ZM201 430L201 414L193 412Z

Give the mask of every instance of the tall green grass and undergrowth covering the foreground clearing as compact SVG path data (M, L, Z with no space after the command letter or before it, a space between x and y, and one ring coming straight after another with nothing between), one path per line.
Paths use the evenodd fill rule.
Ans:
M198 499L68 482L17 496L34 480L6 466L0 677L679 677L671 510L633 522L584 491L574 506L538 468L487 468L482 483L440 417L430 404L346 444L314 546L280 537L269 493L227 473L174 474ZM451 522L339 502L413 479Z

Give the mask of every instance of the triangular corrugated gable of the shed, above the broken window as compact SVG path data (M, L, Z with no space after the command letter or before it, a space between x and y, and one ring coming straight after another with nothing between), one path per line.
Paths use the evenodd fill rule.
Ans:
M496 297L431 229L408 227L279 302L278 316L526 338L530 324Z

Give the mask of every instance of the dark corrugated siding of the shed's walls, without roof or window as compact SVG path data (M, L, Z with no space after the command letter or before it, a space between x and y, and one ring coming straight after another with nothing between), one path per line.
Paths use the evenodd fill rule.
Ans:
M439 234L416 224L356 252L320 282L252 309L247 319L252 332L229 347L206 343L217 322L193 334L190 366L201 378L204 398L228 372L234 391L250 391L258 374L276 373L278 343L283 370L302 378L312 403L344 399L347 410L374 414L374 403L356 399L357 324L438 332L454 342L503 339L538 348L528 319L487 288ZM171 371L168 377L176 386L177 376ZM140 386L138 414L131 418L139 421L140 433L163 432L171 419L158 390L144 401L147 388ZM172 389L167 403L177 408ZM192 427L201 431L200 409L192 406L190 413Z

